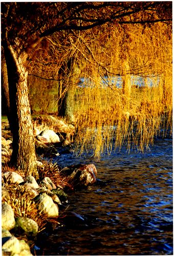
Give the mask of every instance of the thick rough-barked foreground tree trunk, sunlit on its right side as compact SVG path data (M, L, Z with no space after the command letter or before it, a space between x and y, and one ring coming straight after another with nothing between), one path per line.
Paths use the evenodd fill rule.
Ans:
M8 72L10 112L9 124L13 136L12 166L22 169L25 175L37 176L33 125L29 103L27 75L25 70L27 54L19 57L11 46L5 46Z

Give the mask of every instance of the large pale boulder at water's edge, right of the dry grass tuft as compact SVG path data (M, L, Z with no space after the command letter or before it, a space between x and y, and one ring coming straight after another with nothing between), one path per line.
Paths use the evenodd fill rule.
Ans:
M58 217L58 206L53 202L53 199L47 194L43 193L34 198L38 208L48 217Z

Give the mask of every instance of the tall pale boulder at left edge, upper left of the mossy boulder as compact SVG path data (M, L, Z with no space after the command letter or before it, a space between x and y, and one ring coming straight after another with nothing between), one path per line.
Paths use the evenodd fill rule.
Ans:
M2 204L2 228L11 230L15 226L14 212L9 204Z

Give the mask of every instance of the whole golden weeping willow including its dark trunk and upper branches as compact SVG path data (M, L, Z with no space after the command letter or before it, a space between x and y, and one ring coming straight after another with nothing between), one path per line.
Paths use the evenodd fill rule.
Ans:
M143 23L146 15L56 32L33 53L30 72L58 81L58 111L75 120L80 154L91 149L99 157L124 143L143 151L161 131L171 131L170 25Z

